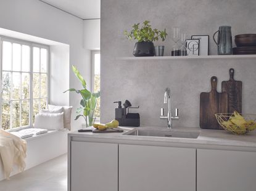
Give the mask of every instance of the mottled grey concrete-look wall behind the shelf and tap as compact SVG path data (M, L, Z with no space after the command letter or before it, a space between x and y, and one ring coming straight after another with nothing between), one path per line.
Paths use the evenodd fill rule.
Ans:
M229 68L234 68L234 79L242 81L242 112L256 113L256 64L254 59L217 60L129 60L133 57L136 41L128 41L123 31L134 23L151 21L152 27L167 29L165 55L170 55L173 45L171 27L180 27L188 36L210 35L210 53L217 54L212 35L218 26L232 26L236 34L255 33L255 0L191 1L191 0L111 0L101 1L101 122L114 119L116 104L113 101L128 99L139 109L141 125L167 126L160 119L165 88L171 89L172 108L179 108L180 120L173 127L199 127L200 93L210 91L210 78L229 79ZM233 44L235 46L235 44ZM173 111L174 112L174 111Z

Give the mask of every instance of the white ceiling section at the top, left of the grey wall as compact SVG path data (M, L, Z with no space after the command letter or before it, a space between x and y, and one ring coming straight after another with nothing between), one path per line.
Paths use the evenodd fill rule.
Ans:
M101 18L101 0L40 0L82 19Z

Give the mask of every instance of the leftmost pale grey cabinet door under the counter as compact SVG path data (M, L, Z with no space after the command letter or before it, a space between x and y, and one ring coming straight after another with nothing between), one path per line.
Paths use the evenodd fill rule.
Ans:
M118 145L71 143L71 191L117 191Z

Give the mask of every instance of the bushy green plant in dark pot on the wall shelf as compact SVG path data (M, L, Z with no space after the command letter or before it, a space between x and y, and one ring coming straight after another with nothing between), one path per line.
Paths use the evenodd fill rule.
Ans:
M125 31L124 34L127 39L134 39L136 42L133 50L133 55L135 57L154 57L155 48L154 41L158 41L159 38L162 41L165 41L167 36L166 29L163 31L159 31L159 29L152 29L151 25L149 25L150 21L144 21L143 25L139 26L138 24L134 24L133 29L128 32Z

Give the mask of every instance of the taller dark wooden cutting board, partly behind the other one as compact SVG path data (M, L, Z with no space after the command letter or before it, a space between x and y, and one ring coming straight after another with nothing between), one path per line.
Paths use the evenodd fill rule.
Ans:
M228 93L228 113L242 112L242 82L234 80L234 69L229 69L229 80L221 83L221 91Z

